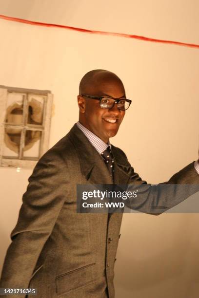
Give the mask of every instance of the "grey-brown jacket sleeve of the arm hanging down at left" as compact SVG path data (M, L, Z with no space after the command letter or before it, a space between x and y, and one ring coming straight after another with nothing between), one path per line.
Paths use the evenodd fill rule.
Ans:
M54 151L45 153L36 165L22 198L18 223L11 233L0 287L28 287L67 195L66 173L66 163Z

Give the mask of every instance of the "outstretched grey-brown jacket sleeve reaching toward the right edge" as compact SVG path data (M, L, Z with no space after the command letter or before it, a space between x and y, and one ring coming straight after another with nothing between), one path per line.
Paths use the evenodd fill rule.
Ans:
M127 158L126 164L126 172L129 175L128 190L138 190L137 198L126 202L126 206L131 209L158 215L199 191L199 174L194 168L194 162L174 174L168 182L158 185L143 181Z

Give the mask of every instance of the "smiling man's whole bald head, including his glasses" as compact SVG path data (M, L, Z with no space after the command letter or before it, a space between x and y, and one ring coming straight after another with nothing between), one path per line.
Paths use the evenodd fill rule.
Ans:
M113 98L117 99L117 104ZM111 72L91 71L81 79L79 121L105 143L118 132L130 103L121 80Z

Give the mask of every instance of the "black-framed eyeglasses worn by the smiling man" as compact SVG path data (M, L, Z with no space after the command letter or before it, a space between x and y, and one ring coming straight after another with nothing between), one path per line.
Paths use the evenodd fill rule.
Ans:
M102 109L112 109L115 103L117 103L118 109L121 111L125 111L130 107L130 104L132 102L132 100L130 99L126 99L126 98L119 99L119 98L113 98L109 96L98 97L98 96L93 96L88 94L80 94L80 96L85 96L88 98L100 100L100 108Z

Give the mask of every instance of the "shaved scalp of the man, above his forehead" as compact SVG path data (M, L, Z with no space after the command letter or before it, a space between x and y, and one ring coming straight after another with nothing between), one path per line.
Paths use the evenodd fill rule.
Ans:
M79 94L96 94L105 83L118 84L125 94L124 86L120 78L116 74L103 69L92 70L82 77Z

